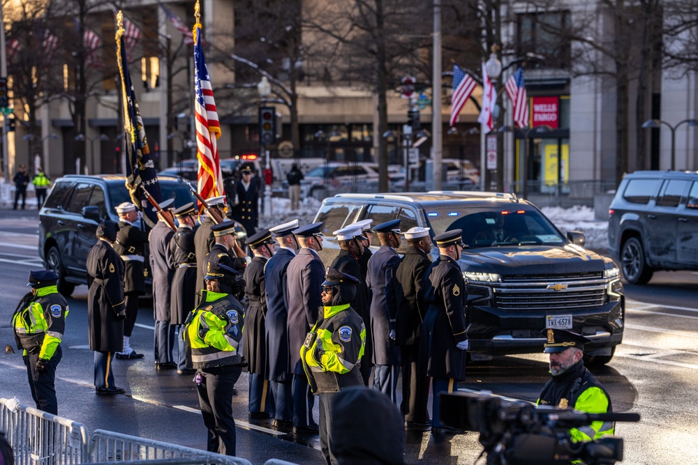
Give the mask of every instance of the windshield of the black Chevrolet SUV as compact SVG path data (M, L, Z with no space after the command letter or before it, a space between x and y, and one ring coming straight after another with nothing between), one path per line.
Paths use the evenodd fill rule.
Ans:
M434 234L462 229L463 242L469 248L561 245L566 242L553 224L537 210L459 211L456 208L427 208L426 216Z

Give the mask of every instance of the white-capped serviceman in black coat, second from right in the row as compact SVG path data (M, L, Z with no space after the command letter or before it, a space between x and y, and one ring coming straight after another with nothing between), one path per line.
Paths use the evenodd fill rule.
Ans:
M393 288L397 309L396 343L400 346L402 365L402 403L400 411L407 427L429 425L429 377L417 373L419 333L426 315L422 280L431 265L429 228L413 227L405 231L408 246L395 268Z

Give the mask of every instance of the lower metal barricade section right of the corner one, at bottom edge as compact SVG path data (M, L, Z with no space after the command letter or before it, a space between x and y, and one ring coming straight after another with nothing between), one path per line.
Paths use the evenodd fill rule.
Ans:
M89 442L89 461L94 463L165 460L166 464L170 465L173 463L171 459L188 459L187 464L196 465L251 465L248 460L239 457L152 441L103 429L97 429L92 433ZM149 465L152 464L153 462L149 462Z

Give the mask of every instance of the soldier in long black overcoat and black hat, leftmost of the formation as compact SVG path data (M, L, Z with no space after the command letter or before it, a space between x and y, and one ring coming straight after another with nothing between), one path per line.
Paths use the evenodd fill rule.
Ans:
M94 351L97 394L123 394L114 385L112 358L124 349L124 261L114 252L119 224L106 220L97 227L97 243L87 252L87 320L89 349Z

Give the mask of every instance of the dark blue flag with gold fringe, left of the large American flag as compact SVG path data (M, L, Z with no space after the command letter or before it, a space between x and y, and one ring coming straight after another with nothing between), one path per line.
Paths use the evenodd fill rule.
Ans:
M124 100L124 136L126 137L126 188L131 194L134 204L140 205L141 211L147 218L157 222L156 214L152 208L148 208L148 201L142 195L140 185L160 203L163 195L158 182L158 174L153 160L150 158L150 148L145 137L143 119L140 116L138 100L135 98L135 90L131 83L131 74L128 73L128 59L126 58L126 31L121 27L117 31L117 66L121 75L121 93Z

